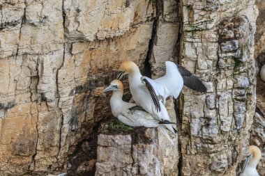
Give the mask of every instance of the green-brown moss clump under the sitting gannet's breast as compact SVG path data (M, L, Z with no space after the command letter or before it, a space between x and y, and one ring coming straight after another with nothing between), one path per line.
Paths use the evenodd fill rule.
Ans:
M132 127L128 125L124 125L122 122L120 122L118 119L114 118L110 120L108 123L108 130L114 133L123 133L123 132L130 132L132 131Z

